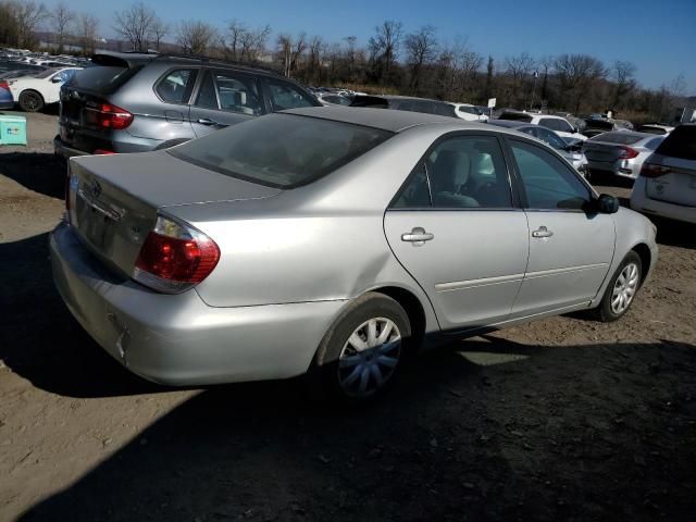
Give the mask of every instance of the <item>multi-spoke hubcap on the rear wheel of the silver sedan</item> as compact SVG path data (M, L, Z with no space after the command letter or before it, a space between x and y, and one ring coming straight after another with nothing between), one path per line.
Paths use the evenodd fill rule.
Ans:
M401 356L394 321L374 318L358 326L338 357L338 383L350 397L369 397L391 377Z

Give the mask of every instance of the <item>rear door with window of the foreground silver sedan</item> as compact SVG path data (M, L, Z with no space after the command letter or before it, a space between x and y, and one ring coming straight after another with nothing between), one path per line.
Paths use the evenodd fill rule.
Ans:
M509 316L529 232L524 212L512 203L498 138L459 135L433 147L387 210L384 229L443 330Z

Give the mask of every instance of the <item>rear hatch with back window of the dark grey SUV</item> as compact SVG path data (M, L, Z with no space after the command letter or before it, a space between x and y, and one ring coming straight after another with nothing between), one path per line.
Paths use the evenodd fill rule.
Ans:
M137 58L136 58L137 57ZM110 105L108 98L115 94L152 58L134 55L122 58L111 54L95 54L92 64L76 73L61 88L60 139L72 149L94 153L99 149L111 150L104 136L104 126L99 125L99 113Z

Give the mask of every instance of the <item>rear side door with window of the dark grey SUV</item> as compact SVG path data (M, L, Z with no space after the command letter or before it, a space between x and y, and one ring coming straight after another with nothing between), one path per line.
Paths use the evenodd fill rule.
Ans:
M210 70L190 107L190 121L197 137L246 122L265 113L256 76L228 70Z

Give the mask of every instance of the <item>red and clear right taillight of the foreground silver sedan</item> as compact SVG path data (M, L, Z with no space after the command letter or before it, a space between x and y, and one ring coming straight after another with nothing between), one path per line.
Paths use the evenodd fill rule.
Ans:
M140 248L133 278L154 290L177 294L208 277L219 260L220 249L206 234L158 216Z

